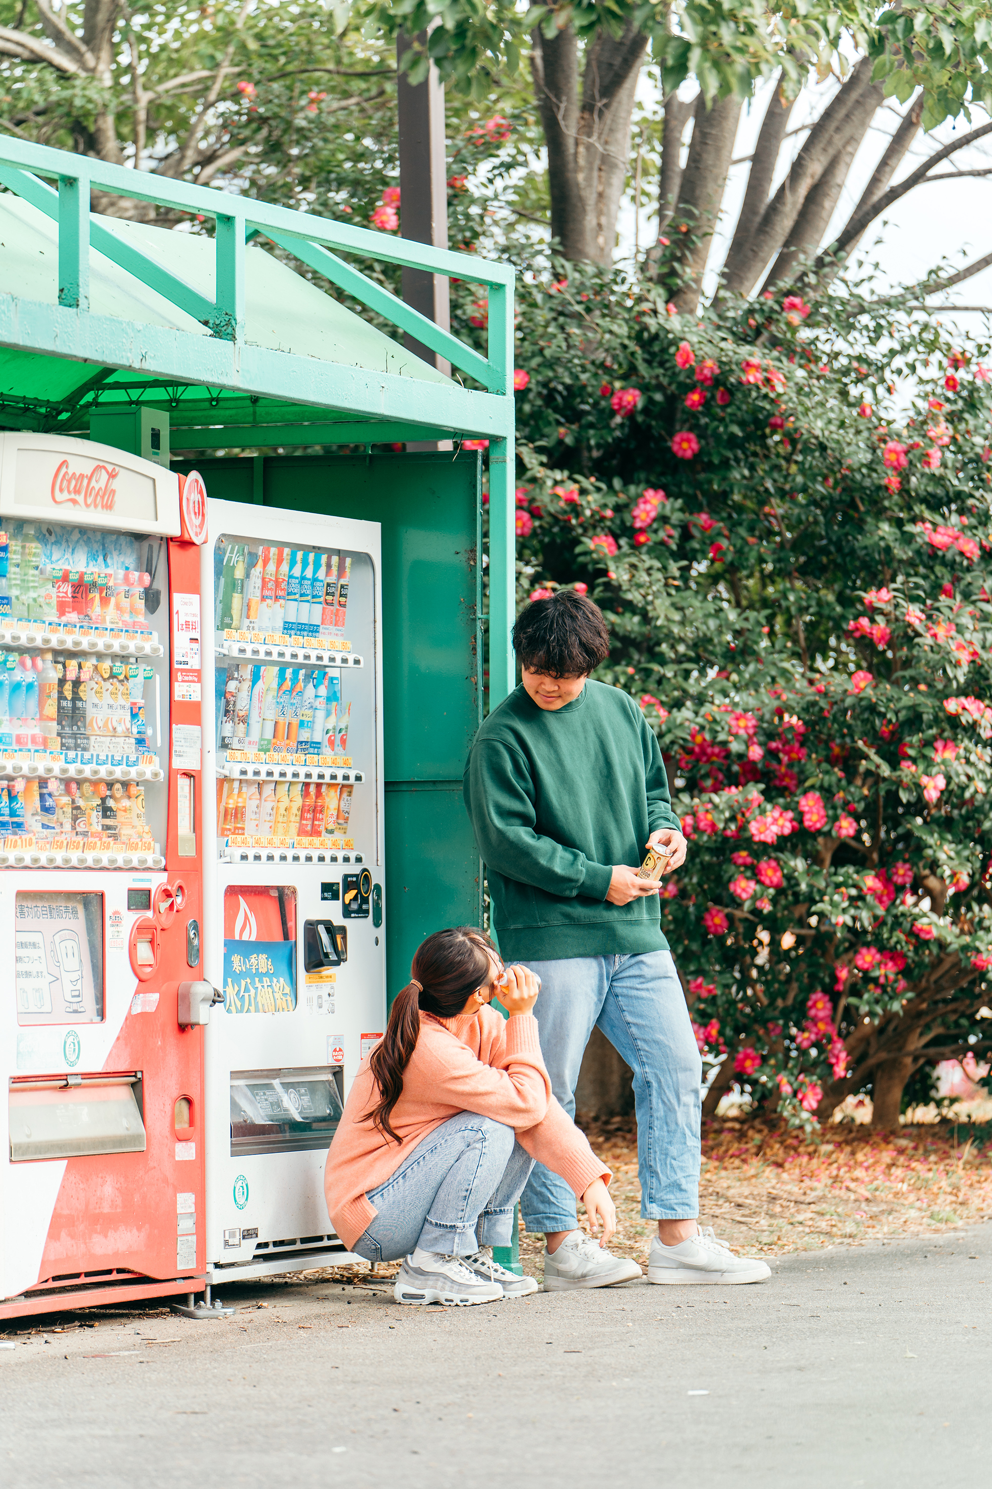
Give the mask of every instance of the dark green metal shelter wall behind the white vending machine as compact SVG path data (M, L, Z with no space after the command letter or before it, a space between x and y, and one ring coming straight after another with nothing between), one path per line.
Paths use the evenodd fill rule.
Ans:
M177 469L189 469L183 462ZM268 456L198 463L211 496L382 526L387 983L431 931L480 925L461 774L480 722L477 454Z

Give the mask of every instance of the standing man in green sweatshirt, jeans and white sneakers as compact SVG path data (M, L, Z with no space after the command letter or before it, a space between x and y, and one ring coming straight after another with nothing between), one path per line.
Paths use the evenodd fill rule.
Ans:
M535 1015L555 1096L574 1117L593 1026L634 1071L641 1215L657 1221L651 1282L763 1282L763 1261L700 1231L702 1065L662 935L647 847L669 871L686 859L657 740L634 698L590 682L607 657L601 610L562 590L518 619L522 682L476 734L464 797L506 960L541 978ZM544 1288L610 1286L640 1276L577 1228L576 1197L535 1164L521 1199L544 1231Z

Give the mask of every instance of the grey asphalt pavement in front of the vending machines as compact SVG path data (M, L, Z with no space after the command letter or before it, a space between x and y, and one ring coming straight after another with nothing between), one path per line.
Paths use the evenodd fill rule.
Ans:
M0 1485L988 1483L991 1260L986 1224L760 1286L413 1309L369 1275L232 1286L225 1321L0 1324Z

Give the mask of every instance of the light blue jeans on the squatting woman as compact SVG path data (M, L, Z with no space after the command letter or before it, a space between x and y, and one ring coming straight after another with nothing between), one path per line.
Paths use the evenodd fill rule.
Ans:
M512 1127L474 1112L449 1117L369 1191L378 1214L352 1249L366 1261L396 1261L415 1246L445 1257L509 1246L532 1167Z

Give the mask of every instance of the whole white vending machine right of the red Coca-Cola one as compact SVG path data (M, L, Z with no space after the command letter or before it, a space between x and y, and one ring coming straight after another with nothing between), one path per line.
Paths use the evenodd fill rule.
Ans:
M379 526L210 502L202 563L204 951L225 999L207 1029L207 1261L222 1281L344 1249L327 1147L385 1021Z

